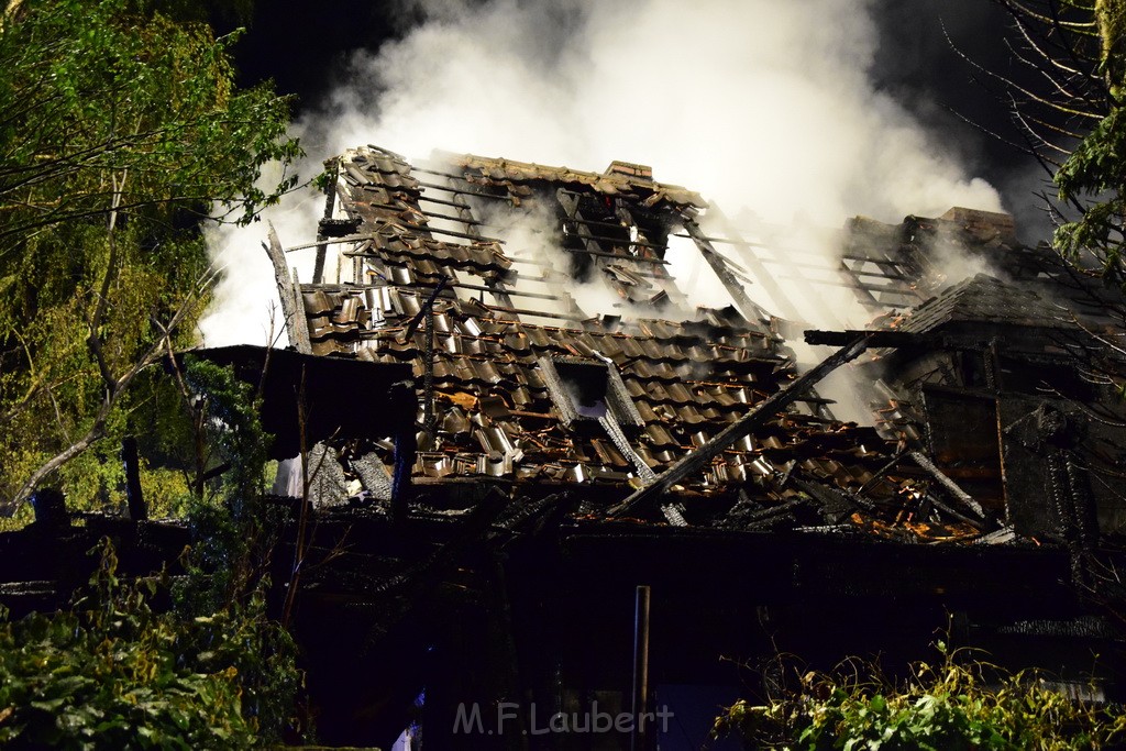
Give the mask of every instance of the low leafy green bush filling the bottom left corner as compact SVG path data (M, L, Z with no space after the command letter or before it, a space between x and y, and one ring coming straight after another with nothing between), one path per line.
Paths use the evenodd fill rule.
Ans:
M125 585L108 543L101 556L93 592L73 610L0 624L0 744L250 748L254 723L231 658L253 616L157 614L157 583Z

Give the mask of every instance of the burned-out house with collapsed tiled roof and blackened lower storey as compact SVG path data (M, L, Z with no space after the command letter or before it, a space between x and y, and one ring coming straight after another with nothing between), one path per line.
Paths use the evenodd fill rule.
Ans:
M438 748L625 748L454 719L664 701L680 730L638 740L670 748L733 698L721 656L905 662L945 625L1069 673L1112 634L1084 596L1126 521L1096 375L1114 301L1008 216L858 217L840 257L794 262L644 166L375 146L328 166L312 278L270 240L291 342L413 376L396 420L318 449L331 481L310 489L356 540L302 606L341 740L414 716ZM688 302L686 252L714 305ZM951 252L994 275L950 284ZM837 315L828 287L872 322L811 325ZM819 392L842 369L872 420Z

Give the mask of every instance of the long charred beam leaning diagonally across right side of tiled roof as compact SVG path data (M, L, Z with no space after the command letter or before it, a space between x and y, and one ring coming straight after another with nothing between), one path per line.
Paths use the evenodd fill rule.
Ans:
M743 415L740 420L727 426L723 431L716 435L715 438L704 444L695 452L682 456L664 472L659 474L653 483L642 488L622 503L610 508L607 513L609 516L617 517L628 516L647 501L651 501L661 493L664 493L674 483L680 482L694 472L703 470L708 463L712 462L713 458L722 454L727 447L733 445L740 438L750 435L751 431L759 428L775 414L781 412L792 403L798 401L807 390L813 387L826 375L846 363L855 360L859 357L869 347L870 337L870 332L865 332L863 336L852 340L847 347L842 347L823 359L814 366L813 369L790 383L789 386L775 392L760 402L753 410Z

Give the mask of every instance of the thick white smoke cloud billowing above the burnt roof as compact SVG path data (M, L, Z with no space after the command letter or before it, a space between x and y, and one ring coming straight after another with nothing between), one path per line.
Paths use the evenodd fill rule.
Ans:
M615 159L641 162L729 215L749 209L775 224L839 227L855 214L899 222L955 205L1000 211L993 188L872 83L872 6L423 2L426 20L355 56L325 108L296 131L318 161L374 143L410 158L440 147L591 171ZM319 211L278 214L311 216L304 229L279 226L283 242L312 239ZM262 227L238 234L235 252L272 278ZM832 243L808 250L837 252ZM244 285L250 261L230 262ZM697 296L714 303L714 283L698 286ZM208 343L254 329L227 318L220 307L205 321Z

